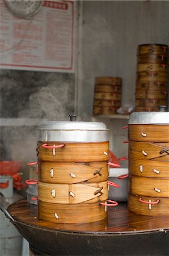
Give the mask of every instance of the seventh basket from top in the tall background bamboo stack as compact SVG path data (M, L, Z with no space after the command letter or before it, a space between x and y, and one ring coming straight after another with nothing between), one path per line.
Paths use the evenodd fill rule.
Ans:
M145 107L157 107L157 106L160 106L160 105L165 105L167 106L168 105L168 102L167 100L157 100L157 98L155 99L150 99L150 98L145 98L145 99L136 99L135 100L135 106L139 107L139 106L145 106Z

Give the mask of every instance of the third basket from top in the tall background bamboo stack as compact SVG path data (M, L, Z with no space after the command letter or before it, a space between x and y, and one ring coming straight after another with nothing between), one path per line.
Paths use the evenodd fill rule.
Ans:
M168 71L168 64L164 64L164 63L137 64L137 72L146 72L146 71L167 72Z

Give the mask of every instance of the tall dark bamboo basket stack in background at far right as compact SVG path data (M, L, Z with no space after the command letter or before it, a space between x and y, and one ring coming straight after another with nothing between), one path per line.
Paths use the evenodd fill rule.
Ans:
M168 105L168 46L142 44L137 48L135 111L158 111Z

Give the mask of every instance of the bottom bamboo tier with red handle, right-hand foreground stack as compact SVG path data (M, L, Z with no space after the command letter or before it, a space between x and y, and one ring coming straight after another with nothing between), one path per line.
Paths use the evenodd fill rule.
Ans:
M139 199L152 203L158 204L145 204L141 203ZM151 208L151 210L149 209ZM163 197L146 197L146 196L137 196L137 195L128 195L128 209L134 213L147 215L147 216L168 216L169 215L169 199Z

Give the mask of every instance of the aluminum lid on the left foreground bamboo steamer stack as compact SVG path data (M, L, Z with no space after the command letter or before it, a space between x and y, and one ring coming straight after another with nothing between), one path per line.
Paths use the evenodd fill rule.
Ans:
M108 129L102 122L52 121L39 127L39 141L43 142L105 142Z

